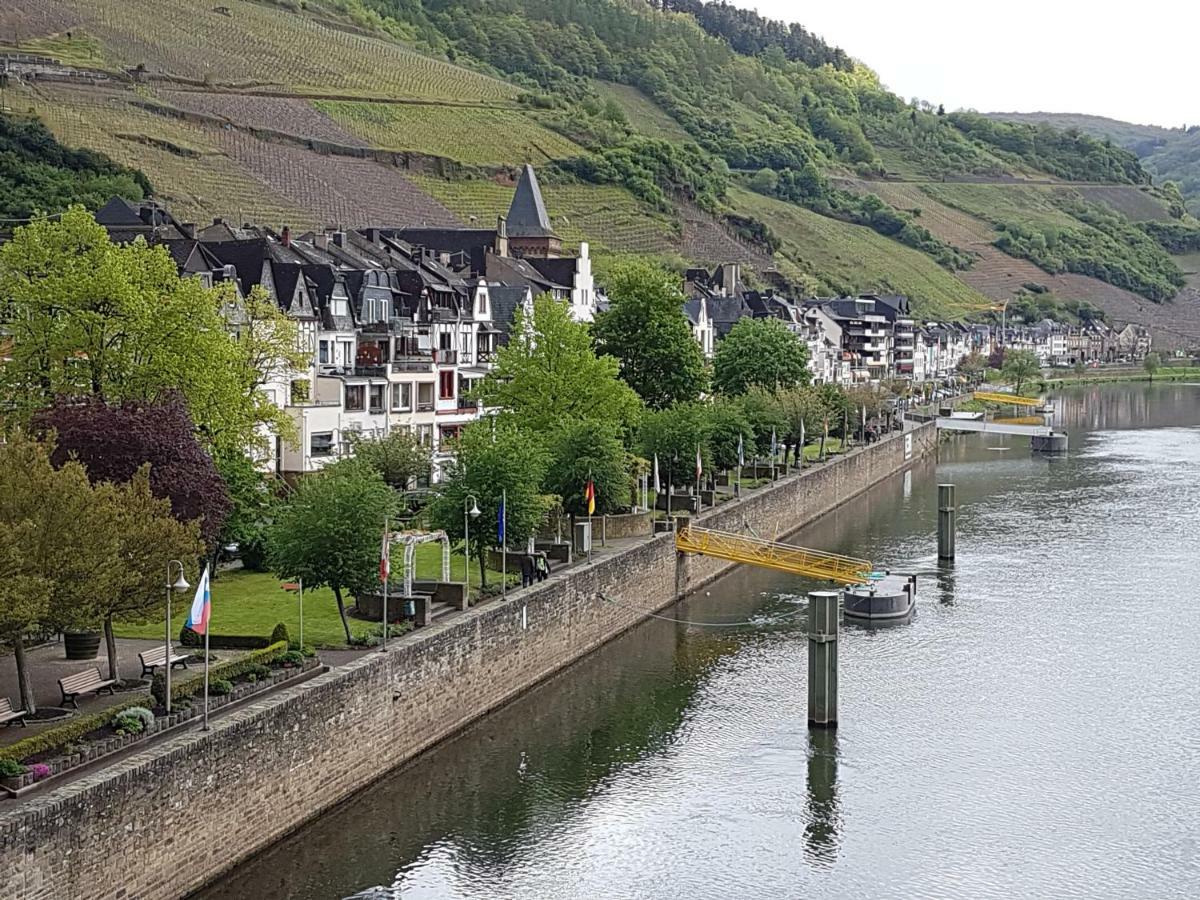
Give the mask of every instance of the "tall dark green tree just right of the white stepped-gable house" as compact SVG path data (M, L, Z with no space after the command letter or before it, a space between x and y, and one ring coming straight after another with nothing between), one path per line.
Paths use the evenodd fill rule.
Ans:
M630 262L614 266L606 286L611 306L592 329L598 352L617 359L620 377L652 409L697 400L708 372L677 277Z

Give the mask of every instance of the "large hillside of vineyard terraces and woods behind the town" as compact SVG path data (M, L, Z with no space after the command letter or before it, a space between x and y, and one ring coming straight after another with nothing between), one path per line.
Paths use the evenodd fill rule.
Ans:
M1190 276L1168 251L1200 246L1123 142L911 104L719 2L38 0L18 25L23 52L112 77L10 106L197 221L485 221L533 162L569 242L902 290L935 317L1039 271L1064 300L1164 301Z

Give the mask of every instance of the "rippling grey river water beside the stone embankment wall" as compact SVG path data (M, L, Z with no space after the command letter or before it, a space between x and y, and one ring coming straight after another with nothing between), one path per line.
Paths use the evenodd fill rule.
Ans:
M1200 896L1200 385L1056 404L1066 458L956 438L796 535L922 572L842 632L835 732L818 586L742 568L202 896Z

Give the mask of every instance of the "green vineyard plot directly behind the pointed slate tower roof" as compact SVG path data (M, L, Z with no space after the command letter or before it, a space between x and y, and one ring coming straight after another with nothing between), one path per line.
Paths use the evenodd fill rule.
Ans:
M412 176L414 185L432 194L463 220L491 224L512 202L514 188L485 179L448 181ZM652 210L622 187L598 185L541 185L554 230L568 245L588 241L595 251L671 253L679 235L670 218Z

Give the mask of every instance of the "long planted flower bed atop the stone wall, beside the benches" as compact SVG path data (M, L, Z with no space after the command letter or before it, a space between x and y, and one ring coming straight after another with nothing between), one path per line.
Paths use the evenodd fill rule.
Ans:
M264 661L265 660L265 661ZM209 712L292 680L319 666L312 656L272 644L244 659L209 667ZM56 728L0 748L0 788L23 794L42 781L170 731L203 714L203 673L172 683L172 712L140 694L107 709L79 715ZM156 679L156 686L157 684ZM157 696L162 695L160 686ZM0 792L2 796L2 792Z

